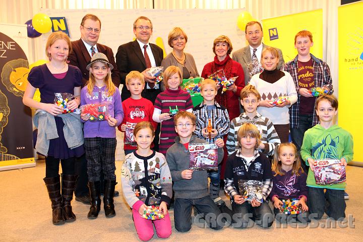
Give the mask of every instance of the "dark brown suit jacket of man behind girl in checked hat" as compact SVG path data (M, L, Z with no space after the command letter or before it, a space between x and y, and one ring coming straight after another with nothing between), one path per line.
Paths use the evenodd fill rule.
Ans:
M89 54L86 46L84 45L82 39L72 41L72 52L68 56L70 65L78 67L82 72L82 87L86 85L89 79L89 71L86 70L87 65L91 62L91 55ZM97 43L98 52L104 53L109 63L113 66L111 78L113 84L118 87L120 84L119 72L117 70L116 63L113 57L113 51L110 47Z

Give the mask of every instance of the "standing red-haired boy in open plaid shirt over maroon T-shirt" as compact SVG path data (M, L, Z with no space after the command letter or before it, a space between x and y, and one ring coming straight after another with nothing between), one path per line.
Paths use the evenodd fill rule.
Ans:
M333 93L330 69L322 59L310 53L313 46L313 35L310 31L302 30L295 35L297 55L281 69L291 74L297 92L297 102L290 107L290 133L292 143L300 151L302 139L307 130L318 124L315 101L309 92L310 88L321 87ZM302 168L308 170L302 163Z

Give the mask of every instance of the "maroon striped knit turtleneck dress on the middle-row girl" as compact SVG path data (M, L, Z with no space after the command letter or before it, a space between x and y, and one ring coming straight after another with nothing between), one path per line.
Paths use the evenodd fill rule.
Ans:
M193 103L191 95L188 92L181 90L180 87L177 90L170 90L167 88L165 91L157 95L154 103L154 108L158 109L154 110L154 112L156 111L158 113L168 113L170 111L170 108L177 108L179 111L186 111L188 109L193 109ZM171 117L170 119L161 122L159 143L160 153L162 153L163 155L166 154L166 150L172 144L174 144L174 139L176 136L177 134L175 132L174 117Z

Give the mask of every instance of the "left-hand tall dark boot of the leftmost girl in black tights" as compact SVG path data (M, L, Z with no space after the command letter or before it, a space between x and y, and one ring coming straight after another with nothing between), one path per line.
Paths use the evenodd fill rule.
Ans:
M43 178L48 195L52 203L52 221L54 225L64 224L66 221L63 216L63 204L61 195L61 182L59 175L50 178Z

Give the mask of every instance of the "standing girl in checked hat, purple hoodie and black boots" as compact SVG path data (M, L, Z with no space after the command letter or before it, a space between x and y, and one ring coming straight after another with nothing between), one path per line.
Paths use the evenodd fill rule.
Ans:
M91 122L87 113L81 113L81 119L84 122L88 186L91 195L91 207L87 217L95 219L100 211L101 167L104 173L103 208L106 217L113 217L116 214L113 205L116 185L115 127L121 124L124 111L118 88L111 80L113 66L108 62L107 56L100 52L95 53L86 69L90 71L90 78L81 90L81 105L106 102L108 109L106 120L99 122Z

